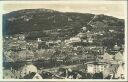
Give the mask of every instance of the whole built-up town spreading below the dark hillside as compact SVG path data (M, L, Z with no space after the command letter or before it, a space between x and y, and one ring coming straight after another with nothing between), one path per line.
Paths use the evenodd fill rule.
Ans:
M49 37L26 40L24 33L4 36L3 78L124 79L124 45L115 43L111 49L95 45L97 35L103 36L104 32L88 30L65 40Z

